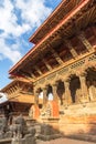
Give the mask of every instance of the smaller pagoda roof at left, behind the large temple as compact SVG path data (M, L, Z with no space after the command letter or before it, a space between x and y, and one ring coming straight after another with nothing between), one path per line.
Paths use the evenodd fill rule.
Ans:
M15 79L4 86L1 92L7 94L8 102L34 103L34 97L32 96L32 84L29 81Z

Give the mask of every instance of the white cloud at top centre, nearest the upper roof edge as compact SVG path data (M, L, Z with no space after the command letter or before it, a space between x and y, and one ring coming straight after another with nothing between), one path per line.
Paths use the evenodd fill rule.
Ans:
M39 27L52 11L44 6L45 0L17 0L15 7L22 11L21 18L28 22L31 28Z

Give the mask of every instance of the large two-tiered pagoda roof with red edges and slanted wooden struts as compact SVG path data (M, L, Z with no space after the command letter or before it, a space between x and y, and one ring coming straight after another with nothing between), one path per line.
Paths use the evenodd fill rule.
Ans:
M67 63L67 60L73 62L84 50L76 35L79 31L85 31L85 35L88 39L89 33L92 41L93 31L88 28L94 29L95 24L95 0L63 0L30 38L30 42L35 43L34 48L9 71L9 74L35 81ZM68 41L74 48L77 47L75 53L68 50Z

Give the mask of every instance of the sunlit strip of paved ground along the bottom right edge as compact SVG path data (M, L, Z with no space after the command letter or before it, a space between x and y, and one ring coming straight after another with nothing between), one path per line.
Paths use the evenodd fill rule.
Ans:
M96 144L96 143L71 140L71 138L57 138L57 140L52 140L49 142L38 141L36 144Z

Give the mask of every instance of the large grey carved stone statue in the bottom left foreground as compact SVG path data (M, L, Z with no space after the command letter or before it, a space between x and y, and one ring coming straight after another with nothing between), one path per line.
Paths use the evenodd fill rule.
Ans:
M25 120L20 114L10 130L13 132L13 138L11 144L35 144L35 128L28 128Z

